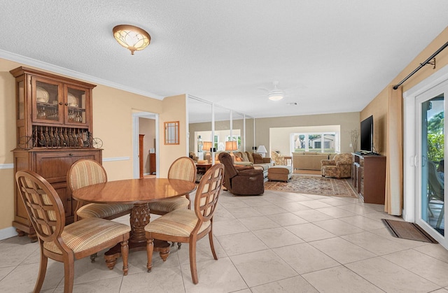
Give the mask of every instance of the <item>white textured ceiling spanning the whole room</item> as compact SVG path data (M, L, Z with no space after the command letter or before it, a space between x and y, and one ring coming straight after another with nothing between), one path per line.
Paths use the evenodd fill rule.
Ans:
M448 26L448 1L15 0L0 15L0 57L274 117L362 110ZM117 24L145 29L151 45L132 56ZM281 101L260 90L274 80Z

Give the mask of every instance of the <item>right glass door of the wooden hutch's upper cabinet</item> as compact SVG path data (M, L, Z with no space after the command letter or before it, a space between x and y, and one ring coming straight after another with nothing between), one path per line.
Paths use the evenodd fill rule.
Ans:
M90 97L88 92L82 87L66 86L64 89L66 101L66 124L87 124L89 122Z

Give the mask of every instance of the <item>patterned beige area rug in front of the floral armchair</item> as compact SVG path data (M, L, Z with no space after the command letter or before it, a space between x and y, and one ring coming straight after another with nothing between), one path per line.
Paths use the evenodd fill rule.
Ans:
M322 176L301 176L293 174L288 182L265 182L265 190L326 196L357 197L345 179Z

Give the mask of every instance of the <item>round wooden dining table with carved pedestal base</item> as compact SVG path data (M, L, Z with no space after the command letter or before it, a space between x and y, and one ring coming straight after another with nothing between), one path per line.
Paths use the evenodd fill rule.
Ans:
M150 221L148 203L181 196L195 191L196 184L186 180L167 178L139 178L108 181L73 190L73 199L85 203L133 203L130 214L130 250L146 250L145 226ZM169 243L157 241L154 250L165 261L169 255ZM104 254L109 269L120 257L120 243Z

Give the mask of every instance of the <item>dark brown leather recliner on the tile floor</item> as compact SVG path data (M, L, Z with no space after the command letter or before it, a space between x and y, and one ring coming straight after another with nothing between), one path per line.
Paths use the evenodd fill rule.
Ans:
M259 195L265 193L263 171L252 166L235 168L232 157L227 152L219 154L219 162L224 164L224 187L232 194Z

